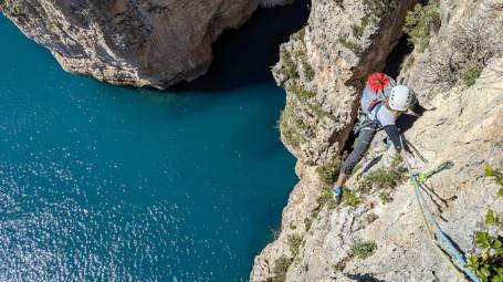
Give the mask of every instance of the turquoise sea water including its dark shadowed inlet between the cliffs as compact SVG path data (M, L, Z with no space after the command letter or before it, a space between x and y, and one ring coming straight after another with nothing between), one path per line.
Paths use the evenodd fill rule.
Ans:
M248 280L296 181L269 65L305 10L227 32L170 94L64 73L0 17L0 281Z

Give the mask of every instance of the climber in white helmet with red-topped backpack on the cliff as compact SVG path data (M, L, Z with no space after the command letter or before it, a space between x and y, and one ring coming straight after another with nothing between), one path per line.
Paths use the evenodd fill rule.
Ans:
M412 92L405 85L397 85L395 80L384 73L371 74L365 84L359 108L359 122L355 130L359 132L355 149L343 163L337 181L333 187L333 195L337 202L340 201L343 186L347 176L368 149L376 132L384 129L397 152L401 152L400 132L395 122L412 104ZM407 161L413 164L415 159L406 147Z

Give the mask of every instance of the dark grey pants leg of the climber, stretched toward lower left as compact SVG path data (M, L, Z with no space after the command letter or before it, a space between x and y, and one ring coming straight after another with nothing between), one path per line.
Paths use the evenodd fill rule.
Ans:
M369 123L360 129L355 149L344 161L343 167L340 168L340 173L349 175L353 171L353 168L355 168L356 164L360 161L360 159L364 157L365 152L367 152L368 146L370 146L374 136L376 136L377 129L378 126L375 123Z

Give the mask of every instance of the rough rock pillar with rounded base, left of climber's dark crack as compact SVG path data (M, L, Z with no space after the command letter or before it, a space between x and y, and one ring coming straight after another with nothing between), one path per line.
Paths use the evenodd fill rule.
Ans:
M363 82L384 67L416 2L312 2L308 24L281 46L273 70L287 91L282 140L302 163L319 165L340 153Z

